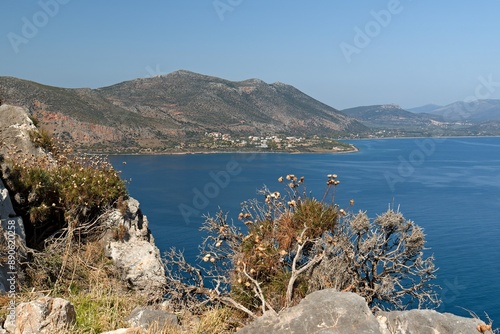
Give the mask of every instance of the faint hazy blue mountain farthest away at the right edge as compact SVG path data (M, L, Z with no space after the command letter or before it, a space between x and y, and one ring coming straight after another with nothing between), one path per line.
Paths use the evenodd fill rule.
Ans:
M469 121L481 123L500 120L500 100L475 100L454 102L430 111L444 121Z

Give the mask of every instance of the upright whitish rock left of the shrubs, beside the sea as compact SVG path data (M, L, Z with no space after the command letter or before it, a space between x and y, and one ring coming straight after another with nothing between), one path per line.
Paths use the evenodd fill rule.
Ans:
M167 282L160 251L139 202L130 198L125 204L124 213L114 210L107 219L106 255L130 288L151 300L160 300Z

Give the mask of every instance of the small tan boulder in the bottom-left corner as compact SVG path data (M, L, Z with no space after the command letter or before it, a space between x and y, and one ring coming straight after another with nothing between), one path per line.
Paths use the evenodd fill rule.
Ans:
M15 321L7 318L4 328L11 334L69 332L76 322L75 308L61 298L42 297L16 307Z

